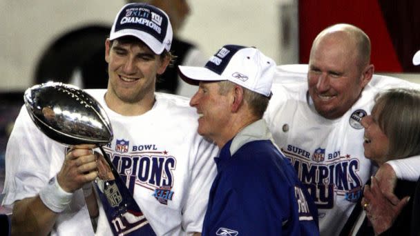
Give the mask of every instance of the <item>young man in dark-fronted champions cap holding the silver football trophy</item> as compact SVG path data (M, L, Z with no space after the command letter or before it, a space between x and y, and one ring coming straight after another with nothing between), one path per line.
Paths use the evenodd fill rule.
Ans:
M172 34L167 15L153 6L131 3L115 18L105 42L108 88L85 91L111 121L113 139L102 150L112 173L95 145L67 148L21 109L6 150L2 202L13 207L12 234L127 235L145 224L156 235L201 232L216 175L208 160L218 149L198 135L189 99L155 92L171 61ZM51 110L44 109L46 119L59 114ZM126 192L114 188L117 181ZM126 209L130 199L138 211Z

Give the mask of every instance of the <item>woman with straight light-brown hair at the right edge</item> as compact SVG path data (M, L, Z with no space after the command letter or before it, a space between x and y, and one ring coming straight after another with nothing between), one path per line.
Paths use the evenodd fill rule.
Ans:
M379 167L392 159L420 155L420 91L394 88L379 94L372 114L363 117L361 124L365 157ZM341 235L410 235L415 227L416 185L416 181L398 180L394 195L383 194L372 177Z

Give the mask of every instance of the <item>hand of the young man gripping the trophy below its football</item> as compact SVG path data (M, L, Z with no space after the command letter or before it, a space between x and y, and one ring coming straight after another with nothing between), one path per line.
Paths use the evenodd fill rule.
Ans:
M58 184L63 190L73 193L98 176L98 156L92 150L95 147L93 144L77 145L67 153L57 175Z

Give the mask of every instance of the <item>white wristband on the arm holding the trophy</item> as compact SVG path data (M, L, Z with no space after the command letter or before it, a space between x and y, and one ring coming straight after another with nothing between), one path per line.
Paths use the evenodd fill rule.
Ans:
M39 198L44 205L55 213L61 213L67 208L73 197L73 193L67 193L58 184L57 177L53 177L48 184L39 192Z

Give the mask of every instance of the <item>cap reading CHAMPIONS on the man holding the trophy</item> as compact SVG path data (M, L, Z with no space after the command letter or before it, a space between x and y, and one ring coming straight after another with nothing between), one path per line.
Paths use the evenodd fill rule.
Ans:
M157 55L160 55L164 49L168 52L171 50L173 37L171 21L164 11L154 6L128 3L118 12L109 39L128 35L142 40Z

